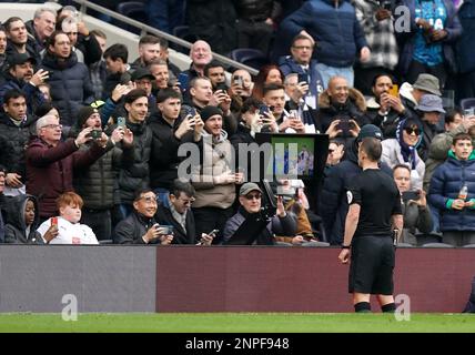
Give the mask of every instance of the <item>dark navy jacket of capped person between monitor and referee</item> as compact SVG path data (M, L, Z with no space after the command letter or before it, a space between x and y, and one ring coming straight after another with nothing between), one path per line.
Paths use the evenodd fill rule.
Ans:
M346 159L344 161L329 170L320 196L319 214L323 220L326 237L332 245L343 243L345 220L348 213L346 191L350 187L350 182L362 172L357 164L357 146L355 141L353 141L351 149L345 155ZM381 163L380 166L390 176L393 175L387 164Z

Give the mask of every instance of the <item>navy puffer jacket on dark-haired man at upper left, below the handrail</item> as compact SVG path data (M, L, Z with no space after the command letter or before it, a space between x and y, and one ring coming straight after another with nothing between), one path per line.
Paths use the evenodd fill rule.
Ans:
M88 67L78 62L74 52L64 62L59 62L58 57L47 53L43 69L53 72L50 73L48 83L51 85L53 104L60 112L61 124L74 125L79 109L93 101L94 92Z

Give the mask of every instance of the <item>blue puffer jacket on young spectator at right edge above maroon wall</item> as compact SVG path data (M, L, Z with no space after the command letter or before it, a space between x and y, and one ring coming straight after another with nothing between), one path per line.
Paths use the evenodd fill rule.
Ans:
M441 231L475 231L475 209L457 211L451 207L463 185L467 185L466 201L475 199L475 152L467 161L457 160L452 151L431 179L428 201L441 211Z

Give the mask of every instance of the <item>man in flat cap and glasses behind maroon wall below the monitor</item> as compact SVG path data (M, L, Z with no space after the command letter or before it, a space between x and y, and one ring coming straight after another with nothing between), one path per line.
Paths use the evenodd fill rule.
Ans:
M224 226L224 243L231 240L241 224L243 224L247 219L254 219L261 212L262 190L253 182L243 184L240 189L239 202L240 207L238 213L234 214ZM272 217L266 227L255 237L254 244L274 245L274 234L295 235L295 217L285 212L282 196L277 196L276 215Z

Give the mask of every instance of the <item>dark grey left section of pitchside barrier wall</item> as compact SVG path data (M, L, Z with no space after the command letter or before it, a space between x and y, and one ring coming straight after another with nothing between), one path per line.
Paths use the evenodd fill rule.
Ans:
M155 250L121 246L1 245L0 312L154 312Z

